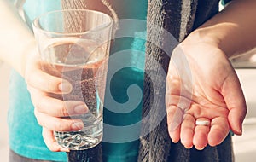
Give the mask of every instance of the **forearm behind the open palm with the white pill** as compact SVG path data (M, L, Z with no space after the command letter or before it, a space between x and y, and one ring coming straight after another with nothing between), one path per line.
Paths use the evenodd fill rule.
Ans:
M215 43L227 57L256 46L256 1L234 0L189 38Z

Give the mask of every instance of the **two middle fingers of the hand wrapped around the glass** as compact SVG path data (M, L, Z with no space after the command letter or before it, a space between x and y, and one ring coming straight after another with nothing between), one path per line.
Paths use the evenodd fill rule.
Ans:
M32 93L32 102L35 106L35 116L38 124L55 131L80 130L84 124L79 119L61 119L74 114L88 112L88 108L82 101L61 101L51 98L47 93L29 87Z

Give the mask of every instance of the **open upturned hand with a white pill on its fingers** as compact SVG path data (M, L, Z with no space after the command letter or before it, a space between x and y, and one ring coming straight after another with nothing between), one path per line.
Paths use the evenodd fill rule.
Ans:
M166 87L172 142L203 149L223 142L230 130L241 135L247 113L244 95L230 61L215 45L181 43L172 54ZM209 125L196 125L197 120Z

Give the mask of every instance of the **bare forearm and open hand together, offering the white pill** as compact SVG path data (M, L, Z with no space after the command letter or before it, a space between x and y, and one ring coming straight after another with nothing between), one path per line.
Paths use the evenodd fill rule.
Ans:
M228 58L255 47L255 5L256 2L250 0L232 1L179 45L178 49L183 51L189 62L192 89L180 94L178 88L181 84L189 83L179 76L178 67L171 61L167 76L166 111L173 142L180 140L186 148L195 146L203 149L207 144L216 146L223 142L230 130L236 135L242 134L247 107ZM173 55L176 53L180 50L175 50ZM191 101L188 101L189 107L185 111L177 105L180 99ZM207 120L211 124L195 125L196 120Z

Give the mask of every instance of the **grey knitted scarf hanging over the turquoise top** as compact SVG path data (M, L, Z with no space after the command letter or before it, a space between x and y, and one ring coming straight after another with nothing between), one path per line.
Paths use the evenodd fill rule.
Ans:
M98 5L102 5L104 12L113 15L113 19L118 19L109 3L112 0L94 0L99 1ZM94 9L93 6L86 4L86 0L62 0L63 9ZM165 43L165 33L160 29L156 29L152 24L163 27L166 31L172 33L179 42L192 32L196 27L200 26L204 21L211 18L212 15L218 13L218 0L148 0L148 43L146 47L145 68L147 74L144 79L144 98L143 98L143 117L150 113L148 121L144 121L142 130L148 128L151 124L160 118L165 109L165 90L166 90L166 74L160 74L160 68L167 72L169 64L169 56L162 49L154 45ZM157 34L155 34L157 33ZM168 41L167 41L168 42ZM149 57L150 56L150 57ZM152 57L153 56L153 57ZM152 61L154 58L154 61ZM155 60L161 66L154 66ZM154 76L154 78L152 78ZM154 90L152 88L152 80L156 81ZM153 96L153 91L159 91L157 97ZM154 97L154 104L152 98ZM68 153L69 161L85 162L85 161L102 161L102 146L83 151L71 151ZM162 119L150 133L146 136L140 136L139 162L230 162L233 161L231 137L227 136L224 142L217 147L207 146L202 151L195 148L186 149L181 143L172 143L166 125L166 118Z

